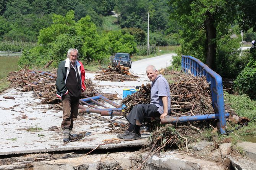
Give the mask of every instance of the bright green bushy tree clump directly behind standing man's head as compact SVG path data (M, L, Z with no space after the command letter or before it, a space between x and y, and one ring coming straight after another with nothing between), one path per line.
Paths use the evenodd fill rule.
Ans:
M69 48L78 48L79 59L106 61L113 52L136 52L132 35L109 32L99 35L90 16L74 20L74 11L65 17L53 14L53 24L40 30L38 45L24 54L19 61L26 65L45 65L53 59L53 67L66 58ZM43 54L42 54L43 52Z

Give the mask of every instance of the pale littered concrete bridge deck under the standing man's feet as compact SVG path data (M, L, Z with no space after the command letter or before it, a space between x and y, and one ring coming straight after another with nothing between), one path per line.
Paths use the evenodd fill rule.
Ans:
M15 100L4 99L6 95L15 97ZM62 111L42 104L40 99L32 96L32 92L19 92L16 89L0 95L0 110L0 155L94 149L101 144L98 149L142 146L148 137L148 134L143 134L142 140L114 140L113 144L104 145L104 140L116 138L116 134L106 129L109 123L89 116L78 116L71 133L85 131L91 134L83 140L64 144L60 129ZM26 119L23 115L26 115ZM58 128L50 131L52 126ZM29 131L36 127L42 130Z

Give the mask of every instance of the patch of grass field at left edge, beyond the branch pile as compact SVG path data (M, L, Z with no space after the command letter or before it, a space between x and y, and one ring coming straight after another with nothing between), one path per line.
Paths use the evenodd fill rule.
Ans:
M17 70L19 57L0 57L0 79L6 78L10 71Z

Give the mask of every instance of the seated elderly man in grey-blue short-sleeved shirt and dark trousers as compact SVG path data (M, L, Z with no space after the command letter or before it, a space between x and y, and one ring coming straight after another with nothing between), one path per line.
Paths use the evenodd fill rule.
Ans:
M147 77L152 81L150 104L138 104L133 107L126 119L130 122L128 129L117 135L123 139L141 139L139 129L145 118L164 118L171 110L170 87L167 80L158 75L156 67L149 65L146 68Z

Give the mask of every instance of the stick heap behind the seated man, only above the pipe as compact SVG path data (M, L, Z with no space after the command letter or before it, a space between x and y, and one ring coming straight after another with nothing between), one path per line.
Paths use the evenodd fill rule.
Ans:
M169 84L171 94L172 116L188 116L215 113L212 107L211 89L205 77L191 77L180 74ZM123 99L125 113L129 113L134 105L150 103L151 84Z

